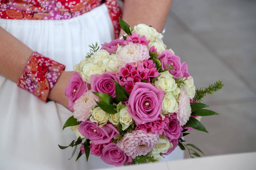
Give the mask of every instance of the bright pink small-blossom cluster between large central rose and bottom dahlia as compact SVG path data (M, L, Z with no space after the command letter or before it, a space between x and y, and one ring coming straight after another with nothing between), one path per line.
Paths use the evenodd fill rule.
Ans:
M168 124L169 124L169 119L167 118L167 115L165 115L164 120L160 119L154 122L138 125L135 128L135 130L143 130L145 132L158 133L162 135L164 132L164 128L166 128Z

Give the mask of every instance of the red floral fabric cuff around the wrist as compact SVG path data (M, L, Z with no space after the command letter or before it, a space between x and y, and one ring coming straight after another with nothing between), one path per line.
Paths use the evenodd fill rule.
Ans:
M65 65L33 52L17 85L46 102L49 91L64 69Z

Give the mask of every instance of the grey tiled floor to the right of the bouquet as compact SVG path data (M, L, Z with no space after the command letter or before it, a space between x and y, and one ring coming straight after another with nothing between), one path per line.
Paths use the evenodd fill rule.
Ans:
M256 1L174 0L164 42L188 63L197 88L225 84L203 100L220 114L201 120L209 134L185 140L205 155L256 151Z

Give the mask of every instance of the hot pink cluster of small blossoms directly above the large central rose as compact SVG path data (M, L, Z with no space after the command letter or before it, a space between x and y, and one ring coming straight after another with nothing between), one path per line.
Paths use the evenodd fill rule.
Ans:
M150 77L159 75L156 69L156 64L153 60L144 60L134 63L127 63L125 67L121 68L120 74L122 86L131 93L136 82L150 82Z

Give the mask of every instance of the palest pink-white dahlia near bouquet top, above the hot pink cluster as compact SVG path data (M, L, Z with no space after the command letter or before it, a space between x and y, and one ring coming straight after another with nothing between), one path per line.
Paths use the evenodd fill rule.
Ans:
M149 51L146 45L131 44L121 48L116 56L121 68L127 63L149 59Z

